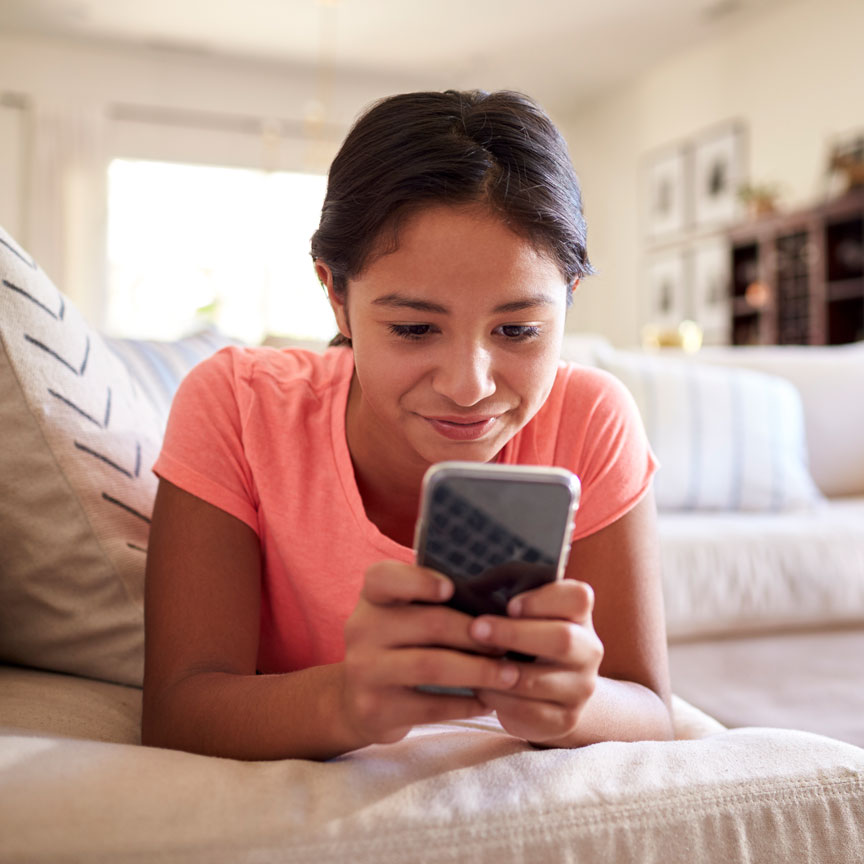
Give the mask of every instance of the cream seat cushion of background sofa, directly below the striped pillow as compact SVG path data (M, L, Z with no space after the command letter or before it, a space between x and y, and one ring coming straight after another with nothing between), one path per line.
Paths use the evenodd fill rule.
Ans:
M672 640L864 622L864 496L782 514L664 513L659 534Z

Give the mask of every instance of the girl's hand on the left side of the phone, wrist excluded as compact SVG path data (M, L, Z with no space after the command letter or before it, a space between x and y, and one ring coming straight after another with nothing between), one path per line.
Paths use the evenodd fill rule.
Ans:
M398 741L419 723L490 713L476 697L421 693L419 685L506 690L515 683L516 664L471 637L473 619L440 605L452 593L449 579L413 564L383 561L366 571L345 625L342 664L345 717L364 743Z

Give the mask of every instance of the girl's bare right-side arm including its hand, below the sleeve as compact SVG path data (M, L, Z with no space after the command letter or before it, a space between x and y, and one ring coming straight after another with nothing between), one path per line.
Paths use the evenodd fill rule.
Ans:
M567 577L517 598L516 616L477 619L475 638L485 622L485 644L538 656L519 664L510 691L484 692L483 702L508 731L549 746L670 739L653 495L574 543Z

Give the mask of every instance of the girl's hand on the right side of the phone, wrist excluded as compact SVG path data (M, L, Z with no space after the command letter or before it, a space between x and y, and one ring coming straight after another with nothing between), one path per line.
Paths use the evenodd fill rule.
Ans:
M514 597L508 617L482 615L469 628L490 649L536 656L518 663L519 680L478 693L501 725L538 744L566 740L597 685L603 644L594 632L594 592L573 579L550 582Z

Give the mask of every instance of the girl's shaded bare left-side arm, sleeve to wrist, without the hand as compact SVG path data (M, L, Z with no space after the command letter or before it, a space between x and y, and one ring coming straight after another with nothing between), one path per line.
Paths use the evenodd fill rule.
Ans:
M260 571L248 525L160 481L147 556L142 743L238 759L360 746L339 722L338 667L255 674Z

